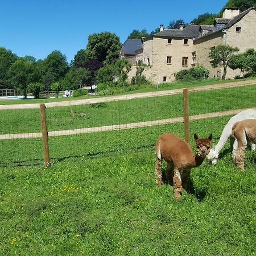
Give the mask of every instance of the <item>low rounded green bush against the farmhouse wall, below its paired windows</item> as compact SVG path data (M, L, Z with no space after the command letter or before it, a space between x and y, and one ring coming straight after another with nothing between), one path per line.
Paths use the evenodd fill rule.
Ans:
M190 81L190 80L199 80L199 79L208 79L209 70L203 66L192 67L189 69L183 69L175 73L176 80L180 81Z

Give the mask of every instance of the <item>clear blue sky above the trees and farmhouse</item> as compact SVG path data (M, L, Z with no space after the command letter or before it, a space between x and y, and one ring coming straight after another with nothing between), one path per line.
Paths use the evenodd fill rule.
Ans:
M228 0L82 1L1 0L0 47L16 55L44 59L54 50L70 62L86 48L88 36L110 31L121 43L134 30L155 30L170 20L191 22L203 13L218 13Z

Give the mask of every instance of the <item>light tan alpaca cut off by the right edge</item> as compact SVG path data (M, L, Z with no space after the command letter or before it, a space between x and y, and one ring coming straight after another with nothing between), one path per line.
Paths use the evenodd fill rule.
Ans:
M234 160L242 171L245 170L243 159L245 158L245 148L247 141L256 143L256 119L245 119L234 123L232 136L237 139L237 151Z

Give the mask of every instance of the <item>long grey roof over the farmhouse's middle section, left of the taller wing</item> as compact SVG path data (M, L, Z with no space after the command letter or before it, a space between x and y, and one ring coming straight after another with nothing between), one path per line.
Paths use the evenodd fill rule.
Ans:
M161 32L154 34L156 37L160 38L197 38L200 35L200 26L189 24L183 30L165 29Z

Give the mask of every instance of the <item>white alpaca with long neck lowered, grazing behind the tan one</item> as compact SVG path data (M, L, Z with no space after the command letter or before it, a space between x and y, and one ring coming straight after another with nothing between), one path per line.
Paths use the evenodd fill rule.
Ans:
M207 156L207 159L212 161L212 164L217 163L218 153L221 151L221 148L225 146L226 141L230 138L230 145L233 146L232 156L236 155L237 150L237 140L231 136L232 133L232 126L237 121L242 121L245 119L256 119L256 110L254 109L246 109L242 112L234 115L232 118L229 119L228 123L225 125L220 140L218 141L216 146L213 146ZM255 144L251 144L251 150L255 149Z

